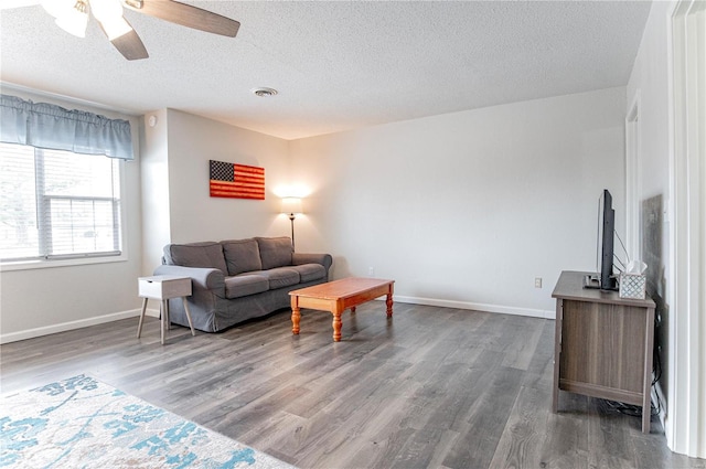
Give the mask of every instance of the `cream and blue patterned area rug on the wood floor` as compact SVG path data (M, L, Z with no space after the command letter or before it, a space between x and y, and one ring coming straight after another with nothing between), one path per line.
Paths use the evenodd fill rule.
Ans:
M85 375L3 396L0 429L0 467L292 467Z

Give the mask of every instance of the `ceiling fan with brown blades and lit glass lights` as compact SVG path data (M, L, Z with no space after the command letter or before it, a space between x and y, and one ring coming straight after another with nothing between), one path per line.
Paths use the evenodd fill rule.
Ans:
M122 15L124 7L182 26L229 38L235 38L240 28L235 20L173 0L15 0L18 3L41 3L56 19L56 24L79 38L85 36L88 13L93 13L110 43L128 61L147 58L149 54L140 36Z

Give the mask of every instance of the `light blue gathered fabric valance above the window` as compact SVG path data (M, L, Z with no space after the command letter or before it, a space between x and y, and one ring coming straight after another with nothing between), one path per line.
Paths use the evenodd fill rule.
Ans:
M0 141L133 159L130 122L0 95Z

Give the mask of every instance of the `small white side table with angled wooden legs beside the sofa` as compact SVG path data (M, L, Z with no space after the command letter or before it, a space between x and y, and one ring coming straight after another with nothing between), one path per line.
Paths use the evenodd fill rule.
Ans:
M179 277L175 275L156 275L152 277L140 277L138 280L138 291L142 300L142 312L140 313L140 323L137 327L137 337L139 339L142 333L142 320L145 319L145 311L147 310L147 300L154 299L160 300L160 321L162 330L162 345L164 344L164 331L170 327L169 320L169 299L181 297L184 302L184 310L186 311L186 319L189 319L189 327L191 328L191 334L196 335L194 326L191 322L191 312L189 311L189 303L186 297L191 296L191 278Z

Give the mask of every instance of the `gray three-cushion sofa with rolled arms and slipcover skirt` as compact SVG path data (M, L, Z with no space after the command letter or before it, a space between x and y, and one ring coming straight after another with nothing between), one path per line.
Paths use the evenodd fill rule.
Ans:
M295 253L289 237L168 244L154 275L191 278L189 310L195 329L222 331L290 306L289 291L329 279L329 254ZM189 327L180 298L171 322Z

